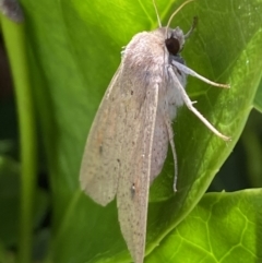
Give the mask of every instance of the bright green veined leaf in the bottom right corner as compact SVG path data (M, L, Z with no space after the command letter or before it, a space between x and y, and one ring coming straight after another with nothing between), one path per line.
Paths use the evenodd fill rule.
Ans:
M145 262L260 262L261 190L209 193Z

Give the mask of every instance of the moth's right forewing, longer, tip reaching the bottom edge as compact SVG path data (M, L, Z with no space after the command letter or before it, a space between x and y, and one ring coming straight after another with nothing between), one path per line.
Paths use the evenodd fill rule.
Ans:
M145 88L145 86L140 87ZM148 91L144 105L141 108L140 120L138 120L140 123L136 123L140 128L138 129L139 134L136 141L132 141L133 130L127 131L124 141L126 151L131 152L127 154L127 159L124 159L124 157L122 158L126 167L121 167L121 172L124 172L126 176L119 178L117 192L121 231L136 263L142 263L144 258L157 100L158 85L155 84L153 88ZM132 118L130 118L130 121L132 121ZM131 158L129 157L130 155Z

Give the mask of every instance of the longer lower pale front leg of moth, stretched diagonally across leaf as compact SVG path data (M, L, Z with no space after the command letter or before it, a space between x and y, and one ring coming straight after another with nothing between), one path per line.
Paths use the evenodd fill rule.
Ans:
M187 105L188 109L191 110L214 134L216 134L218 138L222 138L225 141L230 140L230 138L222 134L219 131L217 131L205 118L203 115L201 115L199 112L198 109L195 109L193 107L193 103L190 100L188 94L186 93L184 88L182 87L182 85L180 84L179 80L177 79L177 76L175 75L171 67L168 67L168 72L174 81L174 84L177 86L177 88L180 91L181 95L182 95L182 99L184 101L184 104Z

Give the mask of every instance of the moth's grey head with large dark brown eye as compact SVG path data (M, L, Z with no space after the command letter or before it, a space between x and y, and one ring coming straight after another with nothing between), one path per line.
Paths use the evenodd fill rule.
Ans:
M177 27L175 29L168 29L165 45L169 53L177 56L183 47L184 36L183 32Z

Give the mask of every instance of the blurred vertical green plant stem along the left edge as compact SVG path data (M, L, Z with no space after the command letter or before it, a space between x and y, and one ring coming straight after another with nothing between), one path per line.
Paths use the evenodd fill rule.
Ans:
M17 262L32 262L33 210L35 201L37 146L35 112L27 65L27 47L23 24L1 16L2 33L16 96L21 147L21 212Z

